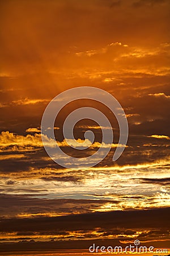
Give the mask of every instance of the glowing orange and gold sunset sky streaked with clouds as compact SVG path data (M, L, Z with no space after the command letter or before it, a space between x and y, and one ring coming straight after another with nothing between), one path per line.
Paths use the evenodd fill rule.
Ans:
M169 7L168 0L1 1L0 255L86 254L94 241L169 247ZM113 113L95 101L71 102L54 128L68 155L94 154L108 129L83 119L75 139L91 130L94 144L68 146L62 126L75 109L100 109L114 134L105 159L74 170L44 150L41 118L54 97L79 86L120 102L129 138L113 162Z

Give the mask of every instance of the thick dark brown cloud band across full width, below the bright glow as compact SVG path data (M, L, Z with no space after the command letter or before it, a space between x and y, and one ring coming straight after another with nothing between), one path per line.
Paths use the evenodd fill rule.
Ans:
M161 216L161 218L160 218ZM61 217L2 220L1 232L42 232L43 230L91 230L95 228L169 228L169 208L107 213L73 214ZM152 220L152 221L151 221Z

